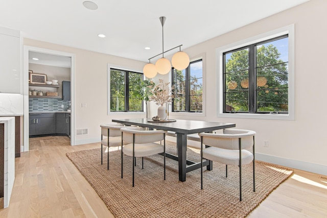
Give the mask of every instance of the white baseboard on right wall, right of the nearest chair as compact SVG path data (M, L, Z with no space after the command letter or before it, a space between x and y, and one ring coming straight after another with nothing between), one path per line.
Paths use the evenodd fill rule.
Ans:
M300 169L302 171L308 171L311 173L316 173L325 176L327 175L327 166L322 164L310 163L300 160L292 160L292 159L276 157L276 156L271 156L261 153L255 153L255 159L268 163L274 163L282 166Z

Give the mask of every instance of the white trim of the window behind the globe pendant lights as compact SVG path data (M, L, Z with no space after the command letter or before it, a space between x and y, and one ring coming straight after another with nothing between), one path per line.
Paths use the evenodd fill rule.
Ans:
M169 114L176 116L205 116L205 53L190 58L190 62L202 59L202 112L172 112L172 107L169 107ZM172 81L172 74L169 74L169 81Z

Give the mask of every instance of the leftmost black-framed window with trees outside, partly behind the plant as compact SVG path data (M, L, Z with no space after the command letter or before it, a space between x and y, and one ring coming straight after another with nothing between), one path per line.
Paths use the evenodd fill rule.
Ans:
M122 69L110 68L110 111L143 111L143 101L133 96L143 74Z

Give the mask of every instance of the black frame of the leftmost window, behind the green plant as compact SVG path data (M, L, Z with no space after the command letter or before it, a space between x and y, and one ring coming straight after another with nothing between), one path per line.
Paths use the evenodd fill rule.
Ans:
M110 106L110 112L111 113L114 113L114 112L144 112L144 101L142 100L142 103L141 103L141 110L133 110L133 111L130 111L129 110L129 74L132 73L132 74L139 74L139 75L142 75L142 80L144 80L144 75L143 75L143 72L135 72L135 71L132 71L132 70L125 70L125 69L119 69L119 68L111 68L110 67L110 75L111 75L111 70L118 70L118 71L123 71L125 72L125 110L121 110L121 111L111 111L111 106ZM111 76L109 78L109 82L111 84ZM109 102L110 99L111 99L111 88L109 89L110 90L110 96L109 96Z

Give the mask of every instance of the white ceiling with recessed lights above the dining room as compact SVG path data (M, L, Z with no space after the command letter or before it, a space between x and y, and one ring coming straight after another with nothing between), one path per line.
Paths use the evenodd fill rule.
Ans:
M185 49L308 1L94 0L98 9L89 10L84 0L7 0L1 3L0 27L20 30L24 38L147 62L162 52L160 16L167 17L166 51L180 44Z

